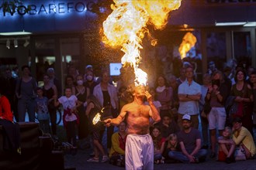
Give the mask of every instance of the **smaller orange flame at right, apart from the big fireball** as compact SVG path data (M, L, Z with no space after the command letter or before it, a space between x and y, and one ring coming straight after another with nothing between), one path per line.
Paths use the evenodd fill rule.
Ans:
M178 48L178 51L183 58L185 58L186 54L189 52L189 50L195 46L196 38L191 32L187 32L185 36L182 39L182 43Z

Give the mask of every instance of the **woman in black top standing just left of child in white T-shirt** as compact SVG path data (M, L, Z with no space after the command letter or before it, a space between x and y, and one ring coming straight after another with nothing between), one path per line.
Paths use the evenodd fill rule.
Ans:
M50 83L50 77L48 74L43 75L43 96L47 97L48 99L48 111L50 114L50 125L51 125L51 132L54 138L57 138L57 108L54 105L54 97L57 97L57 87L54 83Z

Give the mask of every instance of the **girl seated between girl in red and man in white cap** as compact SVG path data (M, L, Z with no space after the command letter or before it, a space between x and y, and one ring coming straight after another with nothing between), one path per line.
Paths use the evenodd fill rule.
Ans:
M180 150L180 147L178 145L178 137L176 134L170 134L166 141L161 146L163 150L163 157L164 157L164 162L166 163L171 163L171 162L176 162L175 160L169 158L168 153L169 151L178 151Z

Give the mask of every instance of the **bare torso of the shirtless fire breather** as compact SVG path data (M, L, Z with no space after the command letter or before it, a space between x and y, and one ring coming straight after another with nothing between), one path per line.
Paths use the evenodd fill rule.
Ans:
M149 110L144 104L126 104L123 111L126 112L128 134L149 134Z

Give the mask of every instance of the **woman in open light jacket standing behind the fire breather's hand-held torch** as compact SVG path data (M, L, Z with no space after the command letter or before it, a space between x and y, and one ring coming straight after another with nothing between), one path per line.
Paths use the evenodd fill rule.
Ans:
M93 90L93 95L97 97L102 107L105 108L105 114L109 114L109 116L111 117L117 117L119 101L117 97L116 87L109 83L109 79L109 73L106 70L103 70L102 81L97 86L95 86ZM109 149L111 148L111 136L113 132L113 126L107 128L107 148Z

